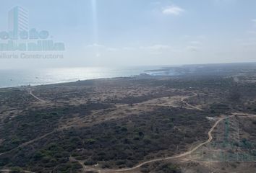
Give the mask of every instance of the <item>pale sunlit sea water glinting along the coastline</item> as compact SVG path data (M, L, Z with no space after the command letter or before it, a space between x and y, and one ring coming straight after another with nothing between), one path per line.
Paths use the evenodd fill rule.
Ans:
M0 69L0 88L56 84L86 79L129 77L156 68L159 67Z

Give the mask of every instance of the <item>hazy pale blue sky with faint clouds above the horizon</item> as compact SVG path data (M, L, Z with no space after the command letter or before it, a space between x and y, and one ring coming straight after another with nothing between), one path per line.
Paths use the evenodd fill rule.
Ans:
M0 6L0 32L14 6L65 50L0 51L0 68L256 62L255 0L8 0Z

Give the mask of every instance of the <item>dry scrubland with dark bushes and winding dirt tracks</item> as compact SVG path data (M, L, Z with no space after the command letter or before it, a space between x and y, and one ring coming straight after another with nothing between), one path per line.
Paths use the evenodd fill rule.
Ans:
M0 89L0 172L256 172L256 66L175 70Z

